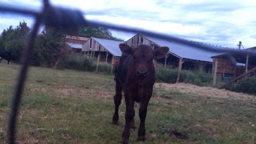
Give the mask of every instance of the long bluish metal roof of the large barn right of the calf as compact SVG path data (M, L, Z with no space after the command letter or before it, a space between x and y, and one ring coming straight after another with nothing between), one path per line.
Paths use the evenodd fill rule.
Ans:
M165 39L159 39L152 36L145 36L141 35L145 38L147 38L149 41L159 45L159 46L167 46L170 49L170 53L173 55L179 57L179 58L186 58L186 59L192 59L192 60L200 60L200 61L208 61L212 62L212 56L222 54L223 52L215 52L215 51L205 51L202 49L199 49L196 46L191 46L187 44L182 44L178 42L172 42ZM186 41L186 40L185 40ZM191 43L198 43L202 45L207 45L199 42L191 42ZM216 49L228 49L226 47L220 47L220 46L214 46L214 45L207 45L209 49L211 47L215 47Z

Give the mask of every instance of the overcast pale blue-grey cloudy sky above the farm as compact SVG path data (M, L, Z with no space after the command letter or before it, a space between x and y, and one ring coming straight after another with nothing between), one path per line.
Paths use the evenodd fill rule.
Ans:
M42 1L1 0L40 10ZM73 0L50 1L53 5L81 10L86 19L113 22L119 25L158 31L197 42L237 48L256 46L256 1L251 0ZM22 15L0 13L0 33L10 25L14 28L25 20L31 27L33 19ZM135 34L112 31L125 41Z

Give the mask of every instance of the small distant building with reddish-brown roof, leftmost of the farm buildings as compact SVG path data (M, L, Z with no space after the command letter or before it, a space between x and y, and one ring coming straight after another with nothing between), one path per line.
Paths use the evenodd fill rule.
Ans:
M87 37L79 37L79 36L66 36L66 44L71 48L73 52L81 52L83 44L88 41Z

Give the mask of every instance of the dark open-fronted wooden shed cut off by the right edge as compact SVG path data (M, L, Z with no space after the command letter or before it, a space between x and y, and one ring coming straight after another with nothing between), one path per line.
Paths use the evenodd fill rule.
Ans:
M217 75L230 79L241 76L255 68L256 47L219 54L211 58L213 59L213 85L215 85Z

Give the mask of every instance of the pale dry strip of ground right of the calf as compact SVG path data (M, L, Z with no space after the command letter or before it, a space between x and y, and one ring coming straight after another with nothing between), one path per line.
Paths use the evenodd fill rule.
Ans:
M205 97L217 97L217 98L233 98L233 99L253 99L256 100L255 95L246 93L231 92L225 89L217 89L210 86L196 86L186 83L167 84L167 83L155 83L156 88L165 89L167 91L175 91L181 93L195 94Z

